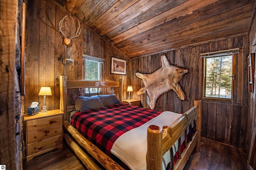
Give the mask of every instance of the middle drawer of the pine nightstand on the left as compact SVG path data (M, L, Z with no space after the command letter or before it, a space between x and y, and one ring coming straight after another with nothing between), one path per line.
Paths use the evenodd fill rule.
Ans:
M38 131L32 131L27 133L27 143L33 143L36 141L41 141L50 137L54 137L62 134L62 125L41 129Z

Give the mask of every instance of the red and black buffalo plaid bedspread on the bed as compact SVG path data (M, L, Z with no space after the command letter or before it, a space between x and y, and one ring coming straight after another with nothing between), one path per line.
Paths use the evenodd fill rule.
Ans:
M86 139L111 156L110 150L118 137L160 113L162 112L120 103L75 113L71 124Z

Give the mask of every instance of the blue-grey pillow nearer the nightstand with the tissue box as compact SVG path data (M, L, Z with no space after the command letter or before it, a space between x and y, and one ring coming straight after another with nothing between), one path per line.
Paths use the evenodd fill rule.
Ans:
M80 112L90 110L90 109L98 109L104 107L102 101L99 96L78 96L75 100L76 110Z

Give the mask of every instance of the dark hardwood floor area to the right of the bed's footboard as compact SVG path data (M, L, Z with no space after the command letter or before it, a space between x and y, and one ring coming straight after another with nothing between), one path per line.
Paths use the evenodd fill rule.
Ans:
M202 138L200 152L190 155L184 170L246 170L246 162L243 149Z

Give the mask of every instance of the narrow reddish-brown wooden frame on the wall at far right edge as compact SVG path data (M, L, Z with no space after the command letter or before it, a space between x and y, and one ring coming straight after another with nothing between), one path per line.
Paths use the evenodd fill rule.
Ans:
M248 91L254 92L254 59L255 53L251 53L248 57Z

